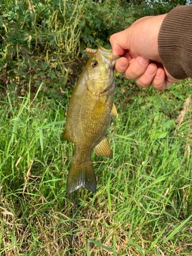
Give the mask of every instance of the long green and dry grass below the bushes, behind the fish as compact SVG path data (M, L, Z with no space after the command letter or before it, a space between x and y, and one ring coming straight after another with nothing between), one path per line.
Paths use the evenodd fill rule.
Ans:
M113 157L92 155L97 193L77 192L71 255L192 255L189 108L176 123L191 80L166 91L117 74L116 82ZM44 84L36 93L30 87L20 96L1 89L0 254L68 255L74 146L60 138L71 91L50 97Z

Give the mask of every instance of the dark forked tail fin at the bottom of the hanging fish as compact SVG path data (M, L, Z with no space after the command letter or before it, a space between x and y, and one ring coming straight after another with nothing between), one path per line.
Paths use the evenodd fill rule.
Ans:
M72 193L80 187L96 193L95 171L92 162L82 163L73 158L67 180L67 192Z

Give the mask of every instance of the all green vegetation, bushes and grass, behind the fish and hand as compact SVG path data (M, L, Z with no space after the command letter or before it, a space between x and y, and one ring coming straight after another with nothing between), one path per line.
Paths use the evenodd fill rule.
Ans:
M74 147L61 142L88 56L113 33L189 1L0 0L0 254L67 255ZM72 255L192 255L191 80L140 89L115 72L111 159L79 189Z

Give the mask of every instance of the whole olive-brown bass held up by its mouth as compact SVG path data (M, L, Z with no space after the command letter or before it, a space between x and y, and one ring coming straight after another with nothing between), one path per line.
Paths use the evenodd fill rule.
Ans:
M91 57L78 79L69 102L61 140L74 143L74 156L67 179L68 194L84 187L96 193L96 177L91 159L111 157L106 132L111 118L117 119L114 101L114 65L120 56L112 50L87 48Z

